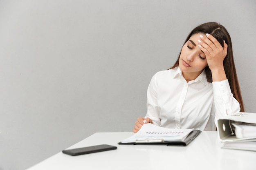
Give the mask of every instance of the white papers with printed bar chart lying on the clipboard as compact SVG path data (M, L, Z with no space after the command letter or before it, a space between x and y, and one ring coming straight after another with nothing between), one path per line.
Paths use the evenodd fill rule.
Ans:
M124 139L121 143L136 141L183 141L193 129L168 129L150 123L144 124L133 136Z

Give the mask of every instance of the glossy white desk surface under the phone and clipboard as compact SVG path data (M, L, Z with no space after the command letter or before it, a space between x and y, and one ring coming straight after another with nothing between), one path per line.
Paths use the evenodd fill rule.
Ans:
M188 146L119 145L133 132L98 132L68 149L109 144L117 150L70 156L62 152L27 170L256 170L256 152L220 148L217 131Z

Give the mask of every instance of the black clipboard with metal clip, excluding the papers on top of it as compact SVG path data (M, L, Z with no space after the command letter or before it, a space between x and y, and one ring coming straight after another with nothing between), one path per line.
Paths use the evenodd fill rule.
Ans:
M147 140L136 140L135 142L122 143L119 145L167 145L167 146L187 146L193 141L202 131L192 130L189 135L183 141L164 141L163 139L148 138Z

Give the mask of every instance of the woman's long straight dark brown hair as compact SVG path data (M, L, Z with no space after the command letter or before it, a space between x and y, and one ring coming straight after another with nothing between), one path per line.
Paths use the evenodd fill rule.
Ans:
M234 95L234 98L240 103L240 112L245 112L243 99L242 99L242 95L241 95L241 91L240 91L240 86L238 83L238 77L236 74L232 42L231 42L230 35L227 32L227 29L225 29L224 26L218 24L217 22L207 22L207 23L201 24L201 25L195 27L189 33L184 44L195 33L203 33L203 34L209 33L209 34L213 35L213 37L218 40L218 42L221 44L222 47L224 46L223 40L225 40L226 44L228 45L227 55L223 61L225 73L226 73L227 79L229 80L231 92ZM181 53L181 51L180 51L180 53ZM175 62L175 64L169 69L179 66L179 59L180 59L180 54L179 54L179 57L178 57L177 61ZM204 70L206 73L207 81L212 82L211 70L210 70L209 66L206 66L204 68Z

